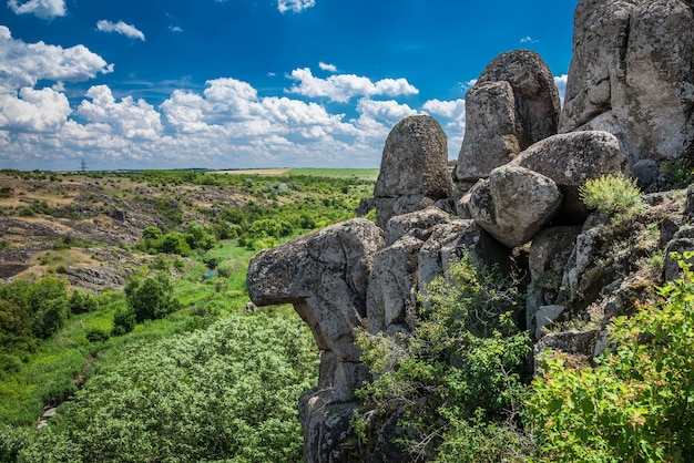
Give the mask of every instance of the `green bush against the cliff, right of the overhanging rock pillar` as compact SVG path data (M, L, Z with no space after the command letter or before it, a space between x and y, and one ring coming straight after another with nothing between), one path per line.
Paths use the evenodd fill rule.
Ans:
M418 459L447 461L455 453L460 461L482 461L465 444L470 423L479 440L509 430L522 438L518 445L525 444L518 412L530 380L530 339L512 321L519 301L512 280L477 268L466 254L420 295L411 336L357 332L361 359L378 378L357 395L382 416L406 410L399 420L402 443ZM502 440L493 446L490 454L520 452Z

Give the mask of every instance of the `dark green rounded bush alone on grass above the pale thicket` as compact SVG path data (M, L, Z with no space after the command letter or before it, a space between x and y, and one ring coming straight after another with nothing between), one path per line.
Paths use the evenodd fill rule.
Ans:
M125 300L137 322L156 320L178 309L173 285L161 271L145 278L133 277L125 285Z

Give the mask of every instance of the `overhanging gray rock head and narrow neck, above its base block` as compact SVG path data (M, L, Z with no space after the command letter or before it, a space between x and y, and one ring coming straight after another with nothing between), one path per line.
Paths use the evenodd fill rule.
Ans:
M382 230L358 218L261 251L248 266L253 302L294 305L323 351L318 385L338 395L348 397L360 379L347 363L359 360L353 332L364 326L368 278L381 248Z

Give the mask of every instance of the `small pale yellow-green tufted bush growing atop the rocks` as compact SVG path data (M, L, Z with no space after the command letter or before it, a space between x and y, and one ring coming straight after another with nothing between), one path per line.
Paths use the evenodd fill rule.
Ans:
M635 214L643 208L636 182L624 176L589 179L579 188L579 195L589 209L610 215Z

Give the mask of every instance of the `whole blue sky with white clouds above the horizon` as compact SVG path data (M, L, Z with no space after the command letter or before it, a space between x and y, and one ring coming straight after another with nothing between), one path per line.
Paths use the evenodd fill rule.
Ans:
M456 158L499 53L562 91L576 2L9 0L0 168L377 167L421 113Z

